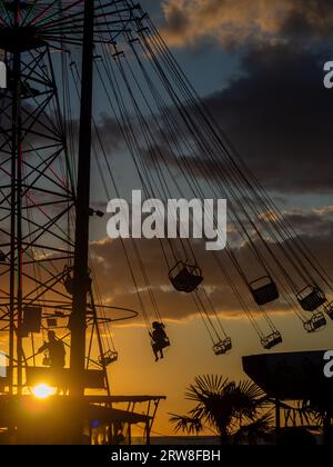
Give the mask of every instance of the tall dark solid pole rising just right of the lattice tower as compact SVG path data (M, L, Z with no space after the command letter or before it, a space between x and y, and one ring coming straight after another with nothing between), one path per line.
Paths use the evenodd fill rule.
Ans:
M93 13L94 1L85 1L70 357L70 395L80 398L84 395L85 316L89 290L88 248L93 82Z

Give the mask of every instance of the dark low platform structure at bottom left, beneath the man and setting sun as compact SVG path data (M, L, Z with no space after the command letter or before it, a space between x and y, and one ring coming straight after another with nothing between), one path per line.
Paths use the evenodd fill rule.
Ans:
M33 396L0 396L0 433L7 438L12 433L16 445L72 444L77 417L83 420L84 436L81 444L93 444L99 431L117 434L121 427L125 444L131 444L131 427L140 424L145 444L157 409L164 396L51 396L40 400ZM135 404L148 403L144 414L134 411ZM114 408L114 404L127 404L128 409ZM10 428L10 429L9 429ZM110 444L112 444L112 436ZM1 436L0 436L1 444Z

